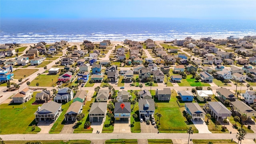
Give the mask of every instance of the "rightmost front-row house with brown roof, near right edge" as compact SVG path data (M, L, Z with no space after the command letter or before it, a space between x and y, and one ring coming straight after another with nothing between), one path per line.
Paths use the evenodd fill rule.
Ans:
M256 111L240 100L233 101L231 104L236 114L240 116L246 114L247 120L251 120L253 116L256 116Z

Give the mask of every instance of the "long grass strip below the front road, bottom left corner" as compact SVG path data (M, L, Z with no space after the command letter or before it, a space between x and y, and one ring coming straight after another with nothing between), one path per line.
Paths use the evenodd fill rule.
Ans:
M30 140L29 142L38 142L39 140ZM4 141L5 144L25 144L24 140ZM91 144L90 140L40 140L42 144Z

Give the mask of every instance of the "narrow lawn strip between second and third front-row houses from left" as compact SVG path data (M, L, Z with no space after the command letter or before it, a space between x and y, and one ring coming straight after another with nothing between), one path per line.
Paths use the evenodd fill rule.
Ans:
M96 95L96 92L94 92L94 96ZM83 113L84 113L84 118L80 125L78 125L77 128L74 129L74 133L92 133L93 128L91 129L84 129L84 123L86 121L89 121L89 111L90 111L90 104L92 104L93 100L91 101L86 101L85 106L83 106Z

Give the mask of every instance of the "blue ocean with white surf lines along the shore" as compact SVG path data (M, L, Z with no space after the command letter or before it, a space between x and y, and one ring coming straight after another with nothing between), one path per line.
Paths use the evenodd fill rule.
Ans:
M255 20L193 20L179 18L1 19L0 43L144 41L228 36L256 36Z

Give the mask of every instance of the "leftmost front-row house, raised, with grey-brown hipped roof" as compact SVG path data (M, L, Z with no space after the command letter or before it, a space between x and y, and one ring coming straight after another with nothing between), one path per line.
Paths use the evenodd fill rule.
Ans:
M55 122L62 112L61 104L50 101L38 106L34 113L36 122Z

